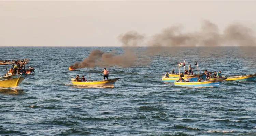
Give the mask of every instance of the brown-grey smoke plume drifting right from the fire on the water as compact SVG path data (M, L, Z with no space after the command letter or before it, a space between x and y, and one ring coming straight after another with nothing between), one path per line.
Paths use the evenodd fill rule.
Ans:
M147 65L150 58L162 51L162 47L175 46L255 46L256 37L254 31L242 24L234 23L228 25L221 33L218 26L208 20L203 21L201 30L190 33L182 33L183 27L180 25L163 29L161 33L146 37L136 31L129 31L118 36L122 43L123 54L115 52L103 52L92 50L87 58L82 62L76 62L70 67L93 68L95 66L121 66L130 67L136 65ZM138 60L134 48L136 46L147 46L145 50L137 51L140 56Z

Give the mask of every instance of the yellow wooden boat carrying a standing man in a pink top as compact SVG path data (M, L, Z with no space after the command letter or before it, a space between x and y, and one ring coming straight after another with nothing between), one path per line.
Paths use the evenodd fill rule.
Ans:
M78 86L86 86L86 87L104 87L104 88L113 88L116 81L120 78L115 78L115 79L108 79L108 80L102 80L102 81L80 81L76 82L75 79L71 79L73 85L78 85Z

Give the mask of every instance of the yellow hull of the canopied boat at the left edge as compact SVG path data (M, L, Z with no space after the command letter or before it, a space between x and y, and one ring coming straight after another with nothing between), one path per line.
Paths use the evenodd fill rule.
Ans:
M27 76L27 74L17 74L0 77L0 87L17 87Z

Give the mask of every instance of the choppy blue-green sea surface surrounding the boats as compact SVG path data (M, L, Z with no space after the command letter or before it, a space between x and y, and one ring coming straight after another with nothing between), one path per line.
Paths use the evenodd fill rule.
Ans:
M1 60L30 58L35 68L16 90L0 89L0 135L256 135L256 82L181 88L161 81L184 58L194 68L197 61L200 73L255 73L256 48L165 48L150 66L109 67L110 78L121 78L115 88L72 86L77 74L102 80L101 67L68 70L92 49L122 52L120 47L0 47Z

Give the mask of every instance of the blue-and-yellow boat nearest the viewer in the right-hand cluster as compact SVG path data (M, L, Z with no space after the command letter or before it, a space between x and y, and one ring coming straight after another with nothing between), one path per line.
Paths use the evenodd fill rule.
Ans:
M181 86L181 87L218 87L219 84L225 80L222 79L214 79L214 80L207 80L202 82L174 82L174 86Z

